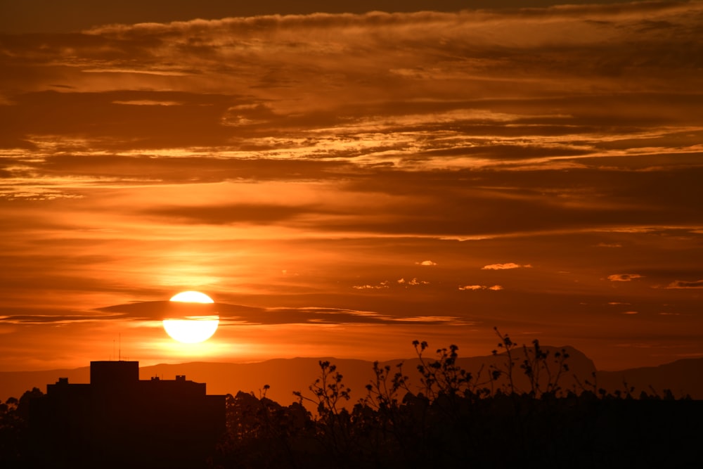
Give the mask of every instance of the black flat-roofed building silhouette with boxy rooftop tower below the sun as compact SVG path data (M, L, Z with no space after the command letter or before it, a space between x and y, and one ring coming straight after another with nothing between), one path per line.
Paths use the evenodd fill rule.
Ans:
M138 361L91 361L90 384L59 378L32 402L37 467L200 468L225 431L205 383L139 379Z

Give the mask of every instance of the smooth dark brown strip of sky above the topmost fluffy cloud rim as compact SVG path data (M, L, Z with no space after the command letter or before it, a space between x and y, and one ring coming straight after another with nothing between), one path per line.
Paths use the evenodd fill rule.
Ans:
M477 12L472 11L478 18L490 20L498 16L496 9L509 8L508 12L516 17L533 16L543 17L550 13L554 16L573 15L574 17L586 17L592 20L602 19L600 15L614 13L620 16L633 15L635 12L661 11L664 2L636 2L636 6L629 8L613 8L604 4L621 4L621 0L599 0L597 5L569 5L560 6L558 0L531 0L529 2L519 0L495 0L489 5L492 11ZM576 2L578 3L578 2ZM644 4L644 5L641 5ZM650 6L648 4L654 4ZM681 2L666 2L669 10L678 7L681 9ZM673 4L673 5L671 5ZM196 23L187 21L191 18L226 18L233 17L257 17L257 18L280 18L292 17L294 20L305 18L310 13L357 13L363 14L367 11L398 11L398 12L456 12L463 10L476 10L486 8L486 3L482 0L410 0L399 4L396 0L375 0L370 1L350 1L339 0L334 3L322 0L308 0L304 2L281 3L280 1L259 1L231 2L225 0L208 0L205 2L193 3L179 1L171 4L171 8L145 8L143 2L136 0L124 0L120 3L120 8L104 8L86 4L82 0L64 0L63 8L46 8L41 10L41 0L25 0L17 6L13 6L12 14L0 17L0 29L4 32L75 32L93 28L94 25L114 25L115 23L141 23L144 29L155 28L157 23ZM529 6L529 10L521 11L519 8ZM551 7L542 9L543 7ZM538 9L539 8L539 9ZM75 15L75 11L81 11L81 15ZM378 13L376 13L378 15ZM435 15L437 13L434 13ZM427 13L425 14L427 15ZM502 15L501 15L502 16ZM199 20L198 23L211 23ZM197 23L196 23L197 24ZM252 23L262 24L262 23ZM341 26L341 25L340 25ZM657 23L650 25L657 27ZM662 27L659 25L659 27ZM112 26L117 29L118 26Z

